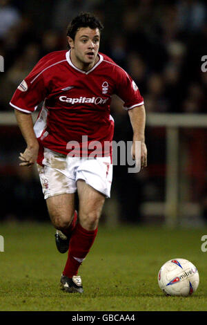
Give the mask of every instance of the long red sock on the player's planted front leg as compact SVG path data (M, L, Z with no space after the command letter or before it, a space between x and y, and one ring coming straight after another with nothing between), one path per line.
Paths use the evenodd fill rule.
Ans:
M63 275L70 278L72 278L73 275L77 275L79 266L81 265L83 259L86 258L86 255L95 241L97 230L98 229L86 230L82 228L79 223L77 223L70 238L68 259L63 270Z

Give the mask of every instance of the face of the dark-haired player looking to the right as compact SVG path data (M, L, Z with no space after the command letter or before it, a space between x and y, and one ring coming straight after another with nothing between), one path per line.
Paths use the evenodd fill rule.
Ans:
M79 28L74 41L68 37L72 62L83 70L92 68L98 61L99 42L99 28Z

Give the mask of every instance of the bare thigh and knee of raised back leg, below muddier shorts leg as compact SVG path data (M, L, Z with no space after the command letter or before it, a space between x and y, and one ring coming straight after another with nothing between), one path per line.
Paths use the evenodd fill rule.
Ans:
M55 228L68 228L75 212L75 194L60 194L46 199L50 219Z

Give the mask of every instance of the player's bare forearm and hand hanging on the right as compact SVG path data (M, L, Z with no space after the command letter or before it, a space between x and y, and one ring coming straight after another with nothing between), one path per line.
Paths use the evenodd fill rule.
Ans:
M132 142L132 158L137 159L136 141L141 142L141 168L147 166L147 149L145 144L145 125L146 125L146 111L144 105L135 106L128 110L130 122L133 129Z

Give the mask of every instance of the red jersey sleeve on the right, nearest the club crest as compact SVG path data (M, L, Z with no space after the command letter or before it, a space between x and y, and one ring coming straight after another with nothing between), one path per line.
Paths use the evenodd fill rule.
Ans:
M137 84L120 67L117 67L116 84L116 94L124 101L124 109L128 110L144 104L144 98L139 93Z

